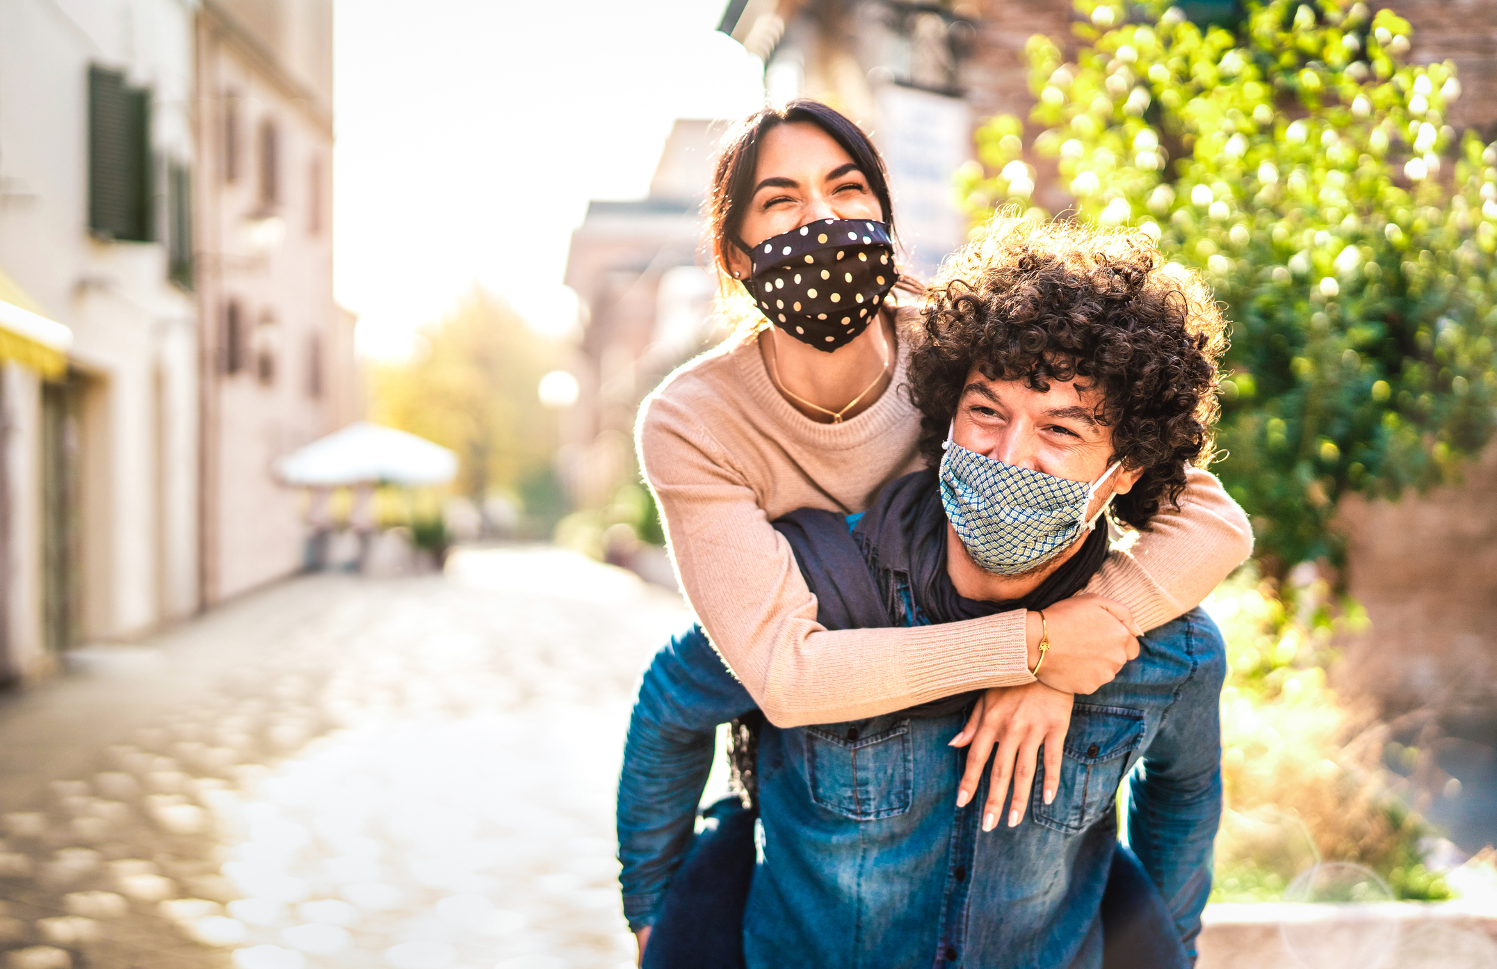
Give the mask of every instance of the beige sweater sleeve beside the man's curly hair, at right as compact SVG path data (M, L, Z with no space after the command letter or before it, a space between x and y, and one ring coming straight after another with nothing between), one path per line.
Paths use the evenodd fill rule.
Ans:
M1127 551L1114 550L1087 592L1117 599L1144 631L1196 608L1253 554L1253 527L1216 475L1186 470L1178 511L1169 505Z

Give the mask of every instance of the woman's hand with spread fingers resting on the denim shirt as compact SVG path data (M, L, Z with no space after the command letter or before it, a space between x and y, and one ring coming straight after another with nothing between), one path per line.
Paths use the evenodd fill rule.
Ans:
M993 762L993 783L988 786L988 804L982 816L982 830L991 831L998 824L998 812L1013 780L1013 803L1009 809L1009 827L1018 825L1028 804L1030 786L1034 783L1034 764L1039 747L1045 744L1043 798L1049 804L1060 788L1060 758L1064 752L1066 729L1070 728L1072 693L1051 689L1043 683L1025 686L998 686L985 692L967 726L957 734L951 746L967 747L967 770L957 791L957 807L966 806L982 779L982 767L988 752L998 744Z

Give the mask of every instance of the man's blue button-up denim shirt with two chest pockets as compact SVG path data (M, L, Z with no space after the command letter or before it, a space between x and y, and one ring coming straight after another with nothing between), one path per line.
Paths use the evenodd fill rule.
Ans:
M1096 969L1124 777L1129 843L1193 950L1220 818L1225 671L1204 611L1151 631L1139 659L1078 696L1055 801L1040 800L1040 767L1025 819L991 833L979 830L987 776L955 807L964 752L946 744L964 713L766 725L748 966ZM716 726L753 705L699 628L645 671L618 789L630 927L653 921L689 846Z

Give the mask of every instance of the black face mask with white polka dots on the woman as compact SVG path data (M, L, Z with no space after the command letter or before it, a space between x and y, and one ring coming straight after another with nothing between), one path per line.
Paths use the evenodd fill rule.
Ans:
M769 321L831 353L868 328L898 276L889 226L823 219L748 250L748 292Z

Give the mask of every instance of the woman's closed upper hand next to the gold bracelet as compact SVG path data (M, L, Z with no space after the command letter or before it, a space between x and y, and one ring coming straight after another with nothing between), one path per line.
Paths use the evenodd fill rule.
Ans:
M1126 605L1090 592L1078 592L1045 610L1049 651L1039 668L1039 681L1067 693L1094 693L1111 683L1130 659L1138 659L1138 637L1144 631ZM1028 614L1030 669L1039 662L1043 625L1039 613Z

